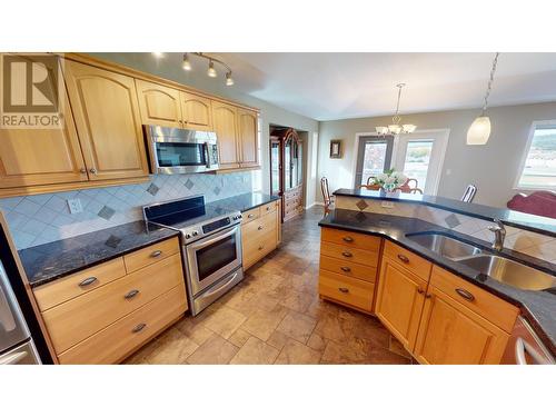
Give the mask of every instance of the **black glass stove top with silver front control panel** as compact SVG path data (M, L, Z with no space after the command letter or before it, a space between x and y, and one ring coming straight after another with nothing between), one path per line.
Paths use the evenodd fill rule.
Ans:
M145 220L180 230L186 244L199 240L241 221L241 212L218 202L205 205L203 196L143 207Z

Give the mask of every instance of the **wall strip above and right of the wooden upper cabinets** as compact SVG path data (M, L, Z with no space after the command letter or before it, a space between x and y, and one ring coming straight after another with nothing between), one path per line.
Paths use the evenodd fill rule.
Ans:
M183 71L181 68L181 54L168 53L162 59L157 59L149 52L95 52L88 53L91 57L100 58L107 61L117 62L139 71L152 73L176 82L180 82L202 91L207 91L230 100L239 101L247 106L260 109L261 118L261 165L262 165L262 190L268 192L270 189L270 150L269 150L269 123L288 126L298 130L308 132L309 138L314 132L318 132L318 121L285 110L267 101L241 93L238 86L226 87L224 78L209 78L203 70Z

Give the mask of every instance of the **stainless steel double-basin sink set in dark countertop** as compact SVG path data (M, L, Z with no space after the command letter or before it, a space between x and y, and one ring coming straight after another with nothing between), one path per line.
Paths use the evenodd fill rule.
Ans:
M440 232L416 232L406 237L445 258L485 274L512 287L542 291L556 290L556 277L498 255L485 252Z

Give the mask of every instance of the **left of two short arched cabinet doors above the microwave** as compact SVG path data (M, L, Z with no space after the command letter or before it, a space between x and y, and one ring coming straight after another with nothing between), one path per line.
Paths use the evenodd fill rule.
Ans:
M143 125L182 127L179 90L143 80L136 85Z

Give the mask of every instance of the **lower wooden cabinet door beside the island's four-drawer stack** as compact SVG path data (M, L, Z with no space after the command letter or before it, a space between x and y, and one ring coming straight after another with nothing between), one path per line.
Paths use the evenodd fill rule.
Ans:
M383 258L375 312L408 351L413 351L427 282Z

